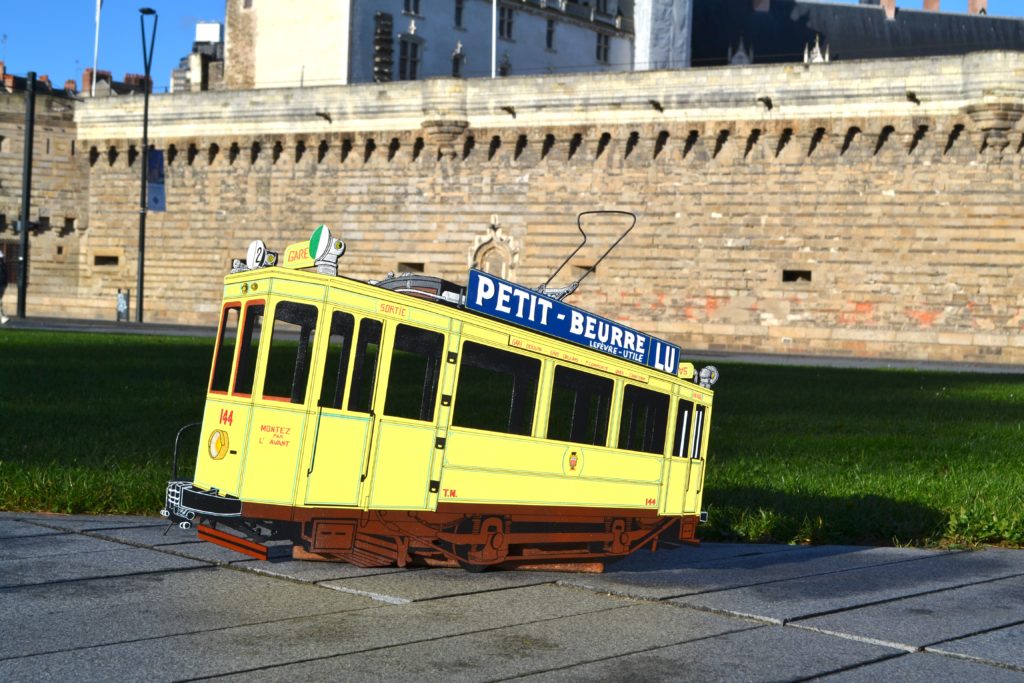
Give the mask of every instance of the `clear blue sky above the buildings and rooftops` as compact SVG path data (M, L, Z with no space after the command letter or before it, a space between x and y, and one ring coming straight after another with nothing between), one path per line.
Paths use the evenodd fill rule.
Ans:
M830 1L853 4L857 0ZM942 9L964 12L967 2L942 0ZM922 0L897 0L896 5L920 9ZM224 0L104 0L99 69L112 72L117 80L126 73L143 71L138 26L138 8L143 6L160 15L153 56L153 80L159 92L170 83L171 70L190 51L196 23L223 20ZM81 87L82 72L92 66L95 7L94 0L0 0L0 59L6 62L7 72L46 74L57 87L74 78ZM1024 0L989 0L988 9L992 15L1024 16Z

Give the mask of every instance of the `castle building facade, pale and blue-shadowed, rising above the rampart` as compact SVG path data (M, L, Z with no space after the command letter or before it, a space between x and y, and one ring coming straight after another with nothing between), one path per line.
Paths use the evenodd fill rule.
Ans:
M632 69L632 5L502 0L498 75ZM227 0L226 84L280 88L490 76L493 7L492 0Z

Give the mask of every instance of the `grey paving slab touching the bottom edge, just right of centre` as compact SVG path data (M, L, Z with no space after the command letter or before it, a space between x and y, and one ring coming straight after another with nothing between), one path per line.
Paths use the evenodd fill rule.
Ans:
M813 636L813 637L809 637ZM652 648L516 681L791 681L894 656L898 650L779 626ZM878 683L877 681L874 683ZM934 683L932 681L931 683Z

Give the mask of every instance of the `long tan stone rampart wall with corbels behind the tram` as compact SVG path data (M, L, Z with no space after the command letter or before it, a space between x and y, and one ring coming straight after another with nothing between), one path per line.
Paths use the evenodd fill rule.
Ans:
M231 257L321 222L346 274L464 281L497 215L538 285L609 208L638 226L572 303L684 349L1021 362L1022 103L1009 52L157 96L147 316L212 325ZM102 317L133 286L140 121L140 98L78 106L78 285L37 283L33 313ZM596 221L573 272L624 227Z

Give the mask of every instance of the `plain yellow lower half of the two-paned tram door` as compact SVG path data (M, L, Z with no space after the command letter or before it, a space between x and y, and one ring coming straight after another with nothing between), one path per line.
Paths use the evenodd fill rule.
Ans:
M306 505L357 505L366 464L370 418L325 411L313 444Z

